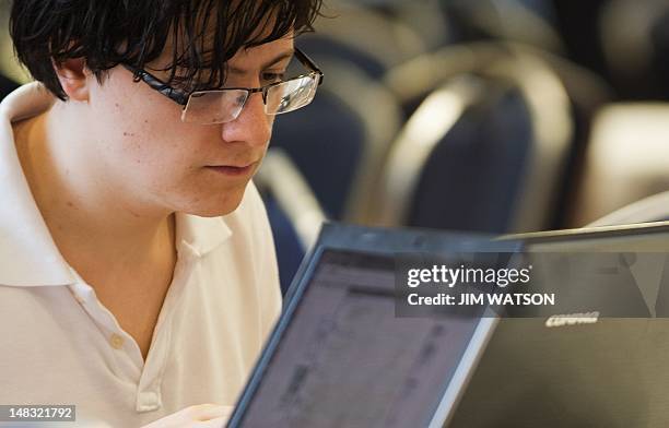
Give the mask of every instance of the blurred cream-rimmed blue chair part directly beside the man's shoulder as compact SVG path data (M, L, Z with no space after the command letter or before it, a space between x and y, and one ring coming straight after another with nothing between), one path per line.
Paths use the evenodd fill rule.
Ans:
M285 296L326 216L304 178L280 148L268 151L255 182L272 227L281 292Z

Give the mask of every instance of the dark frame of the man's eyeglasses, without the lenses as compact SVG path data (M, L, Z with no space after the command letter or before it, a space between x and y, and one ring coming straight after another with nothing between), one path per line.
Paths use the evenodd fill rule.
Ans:
M300 63L302 63L307 70L309 70L309 73L300 74L286 81L273 82L265 86L260 86L260 87L222 87L220 90L203 90L203 91L193 90L188 93L185 93L180 90L169 86L167 83L163 82L162 80L160 80L159 78L151 74L144 69L139 69L137 67L133 67L127 63L122 63L122 66L134 74L133 80L136 82L139 82L139 81L144 82L152 90L157 91L159 93L172 99L179 106L183 106L185 110L186 107L188 106L188 100L190 99L190 96L195 93L208 93L208 92L220 92L220 91L246 91L248 92L248 96L246 97L246 100L244 102L244 104L246 105L246 102L248 100L248 98L250 98L251 94L260 92L262 93L262 103L267 105L267 92L272 86L278 86L280 84L283 84L283 83L286 83L293 80L309 78L314 73L316 73L316 75L318 76L318 83L316 86L320 86L322 84L324 74L322 74L322 71L320 71L320 69L318 68L318 66L316 66L316 63L314 63L314 61L309 57L307 57L306 54L300 50L300 48L295 48L294 55L295 55L295 58L297 58L297 60L300 61ZM242 109L244 109L244 106L242 106ZM239 109L239 111L242 111L242 109Z

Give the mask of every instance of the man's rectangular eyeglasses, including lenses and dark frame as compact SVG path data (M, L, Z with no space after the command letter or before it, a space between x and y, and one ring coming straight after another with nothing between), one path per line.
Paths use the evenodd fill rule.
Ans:
M173 102L183 106L181 121L213 124L235 120L251 94L262 93L267 115L281 115L302 108L314 99L316 88L322 83L322 72L304 52L295 49L295 58L308 70L307 73L262 87L230 87L212 91L185 92L172 87L145 70L124 64L136 74L136 81L146 83Z

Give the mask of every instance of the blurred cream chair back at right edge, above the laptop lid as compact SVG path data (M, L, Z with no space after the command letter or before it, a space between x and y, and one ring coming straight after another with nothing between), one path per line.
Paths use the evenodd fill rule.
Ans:
M578 226L669 189L669 104L615 103L601 109L584 159L571 225Z

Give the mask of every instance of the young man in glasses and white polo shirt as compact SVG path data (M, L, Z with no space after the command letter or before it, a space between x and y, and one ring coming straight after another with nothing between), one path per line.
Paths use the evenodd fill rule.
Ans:
M0 106L0 404L221 423L280 311L250 178L320 83L293 46L319 5L13 3L38 82Z

